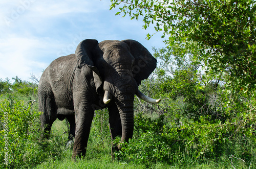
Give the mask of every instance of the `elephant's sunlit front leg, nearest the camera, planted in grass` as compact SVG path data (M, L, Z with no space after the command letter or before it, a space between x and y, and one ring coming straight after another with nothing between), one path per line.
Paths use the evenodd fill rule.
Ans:
M75 109L75 140L72 158L86 154L88 138L93 120L94 110L89 103L74 104Z

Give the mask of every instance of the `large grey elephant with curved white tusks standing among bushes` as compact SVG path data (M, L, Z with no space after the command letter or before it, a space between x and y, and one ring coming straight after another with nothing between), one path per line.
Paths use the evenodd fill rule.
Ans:
M68 119L69 140L74 137L72 159L86 154L94 111L108 108L112 140L129 141L134 130L135 94L150 103L138 90L141 81L156 68L157 60L135 40L95 39L81 41L75 54L55 59L42 73L38 84L38 106L44 138L53 122ZM113 151L121 150L113 145Z

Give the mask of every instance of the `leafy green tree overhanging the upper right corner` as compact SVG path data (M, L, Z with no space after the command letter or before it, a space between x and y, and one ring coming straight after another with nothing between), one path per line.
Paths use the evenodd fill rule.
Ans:
M154 25L172 55L191 55L212 79L225 81L233 92L256 88L256 2L252 0L111 0L111 9ZM148 34L150 39L152 35ZM207 78L205 79L207 80ZM254 92L250 92L254 93Z

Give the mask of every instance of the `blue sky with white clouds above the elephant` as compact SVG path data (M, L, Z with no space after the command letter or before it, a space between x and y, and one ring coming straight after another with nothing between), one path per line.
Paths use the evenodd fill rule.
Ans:
M0 79L31 81L56 58L75 53L84 39L134 39L153 54L164 47L161 33L142 28L142 18L115 15L110 0L1 0ZM146 34L156 33L150 40Z

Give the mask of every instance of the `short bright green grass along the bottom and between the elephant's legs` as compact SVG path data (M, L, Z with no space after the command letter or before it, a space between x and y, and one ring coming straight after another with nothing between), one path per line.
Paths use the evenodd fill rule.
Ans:
M205 159L204 162L189 161L191 159L183 159L172 165L157 163L151 166L144 164L136 164L133 162L126 163L123 161L112 161L111 157L111 140L100 138L100 133L96 129L96 124L93 122L91 134L88 142L88 150L86 156L73 161L71 159L72 150L65 149L62 145L62 153L59 158L49 158L34 168L244 168L246 165L242 161L237 161L236 165L230 163L229 157L222 157L215 161ZM106 127L106 126L105 126ZM56 120L52 127L52 135L68 137L68 126L65 120ZM95 138L98 137L98 138ZM103 137L103 136L102 136ZM109 135L110 137L110 135ZM233 165L233 166L232 166Z

